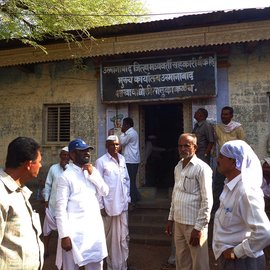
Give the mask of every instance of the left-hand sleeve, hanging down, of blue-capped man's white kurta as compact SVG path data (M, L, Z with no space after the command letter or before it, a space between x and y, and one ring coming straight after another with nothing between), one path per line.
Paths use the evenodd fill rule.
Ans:
M57 230L59 239L70 236L67 204L70 194L70 187L68 180L60 176L60 180L57 183L56 188L56 207L55 218L57 223Z

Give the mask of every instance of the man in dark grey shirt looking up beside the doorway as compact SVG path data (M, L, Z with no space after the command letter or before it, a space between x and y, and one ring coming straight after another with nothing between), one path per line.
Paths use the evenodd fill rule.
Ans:
M198 148L196 156L210 165L211 150L214 145L214 129L206 120L208 111L204 108L199 108L195 114L194 119L197 123L192 130L197 137Z

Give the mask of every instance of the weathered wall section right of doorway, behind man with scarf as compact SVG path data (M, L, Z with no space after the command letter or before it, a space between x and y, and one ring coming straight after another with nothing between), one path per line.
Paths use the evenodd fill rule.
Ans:
M234 46L229 62L229 96L235 109L234 119L243 124L247 142L257 155L268 156L270 48L260 46L248 53L243 46Z

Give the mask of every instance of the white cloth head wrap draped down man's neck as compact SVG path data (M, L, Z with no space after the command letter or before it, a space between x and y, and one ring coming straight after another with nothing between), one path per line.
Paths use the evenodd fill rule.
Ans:
M242 140L228 141L220 149L220 153L236 160L236 169L241 171L242 181L252 187L262 185L262 166L252 148Z

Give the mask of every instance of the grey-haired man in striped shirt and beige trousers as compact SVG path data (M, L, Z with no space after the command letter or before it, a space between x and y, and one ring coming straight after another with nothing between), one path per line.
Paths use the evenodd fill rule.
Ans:
M174 225L176 270L209 270L207 226L213 204L212 169L197 158L195 134L184 133L178 140L181 160L174 170L175 184L166 226Z

